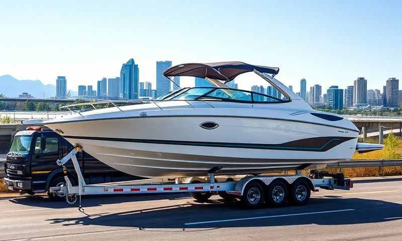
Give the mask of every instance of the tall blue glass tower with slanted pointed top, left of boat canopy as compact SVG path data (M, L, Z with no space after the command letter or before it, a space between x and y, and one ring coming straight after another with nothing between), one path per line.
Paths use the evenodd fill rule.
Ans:
M138 99L139 68L134 59L122 65L120 70L120 98Z

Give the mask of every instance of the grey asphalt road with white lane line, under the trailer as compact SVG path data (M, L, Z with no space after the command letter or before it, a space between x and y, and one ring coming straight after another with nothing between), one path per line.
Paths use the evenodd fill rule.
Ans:
M83 197L86 214L46 197L2 199L0 240L400 240L401 197L402 177L257 210L187 194Z

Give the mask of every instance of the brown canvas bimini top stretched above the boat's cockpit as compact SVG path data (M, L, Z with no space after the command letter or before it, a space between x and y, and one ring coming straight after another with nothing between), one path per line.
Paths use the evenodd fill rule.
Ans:
M243 62L217 62L217 63L187 63L168 68L163 75L169 76L193 76L199 78L212 78L230 81L239 74L257 70L261 73L277 74L279 68L251 65Z

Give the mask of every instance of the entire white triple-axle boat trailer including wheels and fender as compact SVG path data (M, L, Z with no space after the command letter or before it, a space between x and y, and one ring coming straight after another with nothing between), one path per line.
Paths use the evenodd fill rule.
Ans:
M328 190L349 190L353 183L345 179L342 173L330 174L312 170L309 177L300 175L269 175L269 176L242 176L228 177L216 176L220 167L212 168L208 178L190 177L184 181L172 179L145 179L130 182L104 183L87 185L81 174L81 170L75 154L82 151L76 146L62 159L57 160L59 166L71 159L78 177L78 186L73 186L68 176L64 176L66 185L51 187L51 192L63 193L66 201L73 204L79 197L79 210L81 207L81 195L91 194L137 194L137 193L180 193L190 192L191 195L201 201L211 197L213 192L226 201L240 199L246 208L260 207L264 202L274 206L281 206L287 201L295 205L304 205L310 198L311 191L318 191L318 187Z

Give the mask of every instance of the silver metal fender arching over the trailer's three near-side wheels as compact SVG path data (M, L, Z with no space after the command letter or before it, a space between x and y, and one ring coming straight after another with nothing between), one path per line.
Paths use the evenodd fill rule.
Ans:
M277 180L277 179L284 180L289 185L292 184L293 182L295 182L296 180L304 179L307 181L307 183L309 183L311 190L312 191L315 190L313 182L305 176L272 176L272 177L247 176L247 177L242 178L240 181L238 181L236 183L235 192L241 193L241 195L243 195L244 188L251 181L257 180L258 182L264 184L265 186L268 186L271 182L273 182L274 180Z

